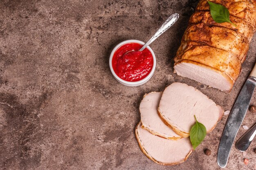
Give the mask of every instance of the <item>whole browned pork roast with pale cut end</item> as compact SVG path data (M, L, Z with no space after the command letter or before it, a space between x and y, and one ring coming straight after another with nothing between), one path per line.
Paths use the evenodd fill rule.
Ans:
M177 75L231 91L256 31L256 0L210 0L229 9L230 20L216 23L207 0L200 0L175 56Z

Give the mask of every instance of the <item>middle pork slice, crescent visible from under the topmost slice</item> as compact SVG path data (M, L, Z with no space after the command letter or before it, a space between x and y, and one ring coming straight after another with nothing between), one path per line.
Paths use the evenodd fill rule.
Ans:
M180 139L181 136L177 135L171 128L166 126L157 114L161 96L162 92L151 92L144 95L139 105L142 128L159 137L172 140Z

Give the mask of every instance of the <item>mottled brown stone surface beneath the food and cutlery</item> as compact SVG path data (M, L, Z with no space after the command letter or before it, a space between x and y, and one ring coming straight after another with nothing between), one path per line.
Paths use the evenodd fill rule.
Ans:
M254 36L231 93L173 73L173 57L196 0L1 0L0 169L3 170L216 170L224 115L189 159L161 166L139 149L135 126L145 93L173 82L195 86L225 110L232 104L256 58ZM126 87L112 77L108 57L123 40L146 41L172 13L181 17L150 47L157 57L149 82ZM252 104L256 104L256 94ZM243 125L252 126L248 111ZM240 128L238 137L246 132ZM236 140L238 139L236 138ZM233 146L230 170L253 169ZM210 156L204 149L210 149ZM175 153L170 153L175 154Z

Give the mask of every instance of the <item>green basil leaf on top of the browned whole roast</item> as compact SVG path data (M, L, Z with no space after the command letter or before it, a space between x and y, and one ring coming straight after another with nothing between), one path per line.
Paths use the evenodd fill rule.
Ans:
M229 10L220 5L220 4L215 4L213 2L207 1L210 5L210 11L211 11L211 17L215 22L222 23L222 22L229 22L233 24L230 19L229 19ZM233 24L236 26L235 24Z

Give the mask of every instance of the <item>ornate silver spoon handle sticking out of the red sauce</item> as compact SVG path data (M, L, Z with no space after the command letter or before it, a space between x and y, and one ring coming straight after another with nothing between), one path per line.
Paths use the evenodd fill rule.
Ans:
M143 51L149 44L151 44L155 39L157 39L162 33L164 33L167 29L169 29L173 24L178 20L179 14L174 13L171 15L165 22L162 24L162 26L157 30L157 32L153 35L150 40L139 50Z

